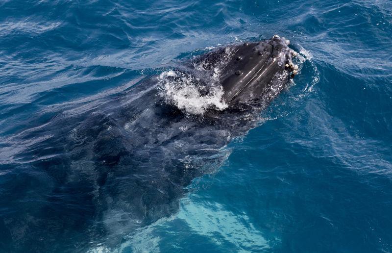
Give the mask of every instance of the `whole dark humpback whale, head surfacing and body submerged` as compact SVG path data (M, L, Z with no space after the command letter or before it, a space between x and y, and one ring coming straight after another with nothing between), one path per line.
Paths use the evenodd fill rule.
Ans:
M257 126L296 74L288 44L274 36L216 49L16 135L25 145L2 148L14 153L1 168L18 177L2 187L19 191L0 206L19 211L1 214L1 248L110 250L174 214L185 186L219 168L222 148Z

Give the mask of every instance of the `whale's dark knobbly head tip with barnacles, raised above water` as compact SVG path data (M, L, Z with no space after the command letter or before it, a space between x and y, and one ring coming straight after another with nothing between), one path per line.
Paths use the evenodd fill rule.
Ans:
M236 104L269 100L282 91L298 69L292 62L296 52L289 44L289 40L275 35L270 40L235 46L230 61L221 71L224 101Z

